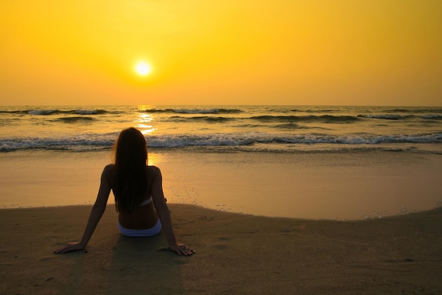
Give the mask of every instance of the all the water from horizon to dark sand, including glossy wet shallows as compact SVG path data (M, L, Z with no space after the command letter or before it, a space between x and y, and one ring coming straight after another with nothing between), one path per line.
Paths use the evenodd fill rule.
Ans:
M102 105L0 107L0 208L92 204L131 126L169 203L309 219L442 205L442 107Z

